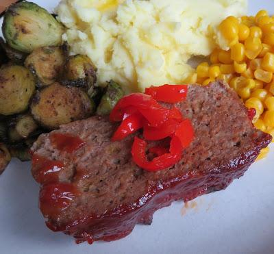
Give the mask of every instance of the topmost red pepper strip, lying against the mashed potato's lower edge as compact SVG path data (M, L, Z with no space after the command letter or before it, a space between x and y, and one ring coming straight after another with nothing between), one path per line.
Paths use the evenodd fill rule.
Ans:
M164 85L151 86L145 89L145 94L150 95L156 101L166 103L177 103L186 98L188 86L186 85Z

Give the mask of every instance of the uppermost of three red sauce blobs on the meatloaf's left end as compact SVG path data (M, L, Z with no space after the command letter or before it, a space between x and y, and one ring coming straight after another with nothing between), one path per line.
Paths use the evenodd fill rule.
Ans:
M51 134L50 140L53 147L66 153L73 153L86 144L86 142L79 137L60 133Z

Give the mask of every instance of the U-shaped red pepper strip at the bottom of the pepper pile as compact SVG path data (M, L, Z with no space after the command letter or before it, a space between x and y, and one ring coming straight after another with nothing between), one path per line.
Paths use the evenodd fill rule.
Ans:
M132 157L134 162L145 170L154 172L169 168L179 162L182 156L182 144L176 136L171 138L170 153L155 157L151 162L146 157L147 142L135 137L132 145Z

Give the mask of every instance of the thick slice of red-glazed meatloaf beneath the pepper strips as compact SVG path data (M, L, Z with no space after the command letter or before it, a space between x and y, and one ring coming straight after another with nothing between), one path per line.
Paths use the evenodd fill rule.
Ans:
M271 142L221 81L189 86L186 100L176 106L191 119L195 140L179 163L155 173L132 161L134 135L142 132L111 142L117 124L108 117L94 116L40 136L32 147L32 174L41 183L47 226L77 242L123 238L137 223L151 224L153 213L175 200L225 189Z

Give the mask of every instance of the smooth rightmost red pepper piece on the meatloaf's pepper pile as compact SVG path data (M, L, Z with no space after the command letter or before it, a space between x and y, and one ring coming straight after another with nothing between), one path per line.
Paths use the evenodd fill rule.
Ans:
M194 134L194 129L189 119L183 120L175 131L175 136L179 138L183 148L186 148L190 145L194 138Z

